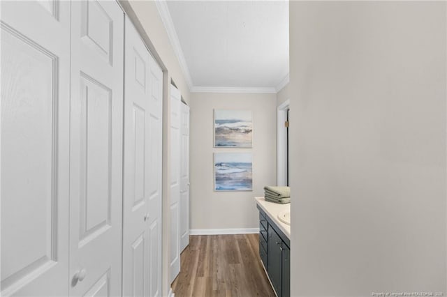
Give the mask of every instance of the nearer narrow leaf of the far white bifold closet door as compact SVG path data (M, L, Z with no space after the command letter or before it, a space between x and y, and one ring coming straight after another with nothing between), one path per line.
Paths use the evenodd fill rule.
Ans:
M180 92L170 86L170 282L180 272Z

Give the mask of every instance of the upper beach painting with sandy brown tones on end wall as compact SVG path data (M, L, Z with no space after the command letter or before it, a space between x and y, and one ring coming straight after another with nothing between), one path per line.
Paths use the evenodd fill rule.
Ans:
M214 109L214 147L251 148L251 110Z

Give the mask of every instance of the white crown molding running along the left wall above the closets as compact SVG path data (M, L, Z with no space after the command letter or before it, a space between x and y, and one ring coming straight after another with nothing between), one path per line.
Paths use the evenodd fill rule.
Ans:
M180 68L182 69L184 79L186 80L186 84L189 87L189 91L191 91L191 88L193 86L193 79L191 78L191 73L189 73L188 65L186 64L186 60L184 59L182 46L180 45L177 32L175 31L173 19L169 13L168 4L166 0L156 0L155 3L157 10L159 10L161 22L163 22L166 33L168 33L170 45L172 45L173 47L175 55L177 56L177 60L179 61Z

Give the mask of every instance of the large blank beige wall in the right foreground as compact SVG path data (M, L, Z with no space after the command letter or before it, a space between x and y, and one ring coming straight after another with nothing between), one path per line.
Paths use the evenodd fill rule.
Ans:
M446 3L290 2L291 295L446 289Z

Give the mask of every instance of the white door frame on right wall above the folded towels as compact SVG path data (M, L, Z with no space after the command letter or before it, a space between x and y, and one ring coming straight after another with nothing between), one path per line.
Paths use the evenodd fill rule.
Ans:
M290 99L277 107L277 185L287 185L287 110Z

